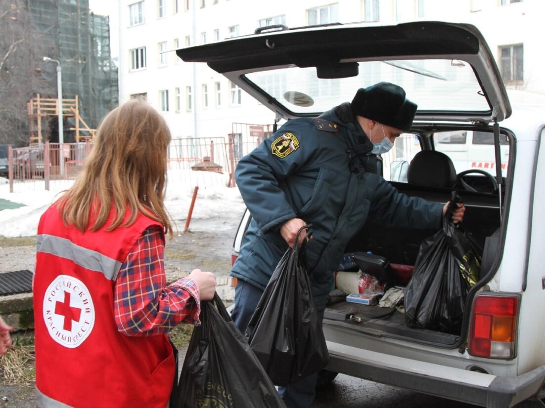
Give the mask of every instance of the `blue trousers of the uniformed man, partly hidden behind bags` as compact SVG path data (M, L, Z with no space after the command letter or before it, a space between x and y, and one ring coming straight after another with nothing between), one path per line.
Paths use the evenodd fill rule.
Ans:
M262 294L263 290L258 287L240 279L237 281L237 287L235 288L235 307L233 308L231 317L242 333L246 331L246 327L248 326L248 323L250 323L250 318L256 310ZM322 327L323 318L324 311L318 311L320 328ZM310 407L314 399L314 388L316 387L317 378L318 373L308 376L297 384L290 384L287 387L278 387L278 393L288 408Z

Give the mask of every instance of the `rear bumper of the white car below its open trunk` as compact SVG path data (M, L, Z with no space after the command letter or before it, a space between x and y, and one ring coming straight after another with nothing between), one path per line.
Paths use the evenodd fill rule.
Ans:
M506 378L329 341L327 344L330 362L326 368L331 371L490 408L509 408L535 399L545 381L545 366ZM535 404L545 407L537 399Z

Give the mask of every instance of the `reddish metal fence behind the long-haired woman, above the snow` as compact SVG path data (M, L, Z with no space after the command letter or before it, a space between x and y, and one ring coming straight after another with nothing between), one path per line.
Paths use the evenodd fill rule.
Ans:
M243 126L246 128L243 129ZM241 125L227 137L173 139L168 148L168 180L191 186L235 187L238 160L253 150L259 139L249 138ZM243 137L241 137L241 134ZM92 143L35 144L9 148L9 191L57 190L69 186L83 169Z

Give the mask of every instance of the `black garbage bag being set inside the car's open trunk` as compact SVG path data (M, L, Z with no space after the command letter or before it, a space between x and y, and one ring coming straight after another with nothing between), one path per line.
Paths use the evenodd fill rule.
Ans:
M413 275L405 288L405 323L422 329L458 333L469 290L479 280L482 249L452 210L461 197L452 192L443 228L422 241Z

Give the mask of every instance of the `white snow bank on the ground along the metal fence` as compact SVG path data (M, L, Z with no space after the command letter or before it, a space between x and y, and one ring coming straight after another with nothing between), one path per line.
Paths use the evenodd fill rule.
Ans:
M238 188L229 188L227 175L205 171L172 170L168 172L165 206L175 221L174 229L184 231L193 190L197 199L190 222L192 231L226 231L238 225L244 212L244 202ZM24 207L0 211L0 236L35 236L41 214L69 188L72 181L51 181L50 190L44 182L16 182L14 193L0 177L0 198L24 204Z

